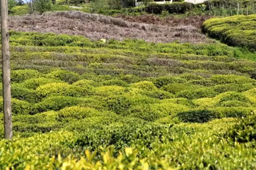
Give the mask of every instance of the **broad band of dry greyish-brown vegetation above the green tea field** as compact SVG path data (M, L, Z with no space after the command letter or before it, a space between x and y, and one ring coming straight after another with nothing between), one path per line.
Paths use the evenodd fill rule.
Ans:
M187 24L162 26L136 23L80 11L49 12L43 16L13 16L9 19L9 27L15 31L82 35L91 40L137 38L147 42L212 42L204 34L201 34L198 28Z

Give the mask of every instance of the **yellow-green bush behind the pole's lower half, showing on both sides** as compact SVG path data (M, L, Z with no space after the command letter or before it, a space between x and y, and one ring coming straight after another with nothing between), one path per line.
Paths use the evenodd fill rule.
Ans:
M12 114L29 114L30 108L28 102L12 99ZM3 98L0 98L0 112L3 112Z

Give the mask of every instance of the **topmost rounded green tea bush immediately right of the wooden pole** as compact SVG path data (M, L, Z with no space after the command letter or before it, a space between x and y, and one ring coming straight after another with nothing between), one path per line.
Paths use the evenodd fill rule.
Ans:
M36 70L14 70L11 72L12 82L24 82L27 79L38 78L39 72Z

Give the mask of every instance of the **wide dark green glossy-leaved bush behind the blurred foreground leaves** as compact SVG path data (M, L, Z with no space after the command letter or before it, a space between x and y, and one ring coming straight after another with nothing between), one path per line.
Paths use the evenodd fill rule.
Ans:
M101 145L113 145L117 150L137 145L139 148L151 148L153 143L172 141L168 136L169 126L164 125L123 125L84 133L75 142L76 146L90 150L99 150ZM165 136L162 138L162 136ZM146 139L146 140L145 140ZM95 141L95 142L91 142ZM117 154L114 153L115 155Z

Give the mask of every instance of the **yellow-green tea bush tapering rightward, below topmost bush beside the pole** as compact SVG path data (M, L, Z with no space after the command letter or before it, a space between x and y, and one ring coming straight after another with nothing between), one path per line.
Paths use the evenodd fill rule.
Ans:
M23 82L23 86L25 88L31 88L31 89L36 89L41 85L45 85L48 83L52 83L52 82L62 82L61 80L57 80L57 79L47 79L47 78L34 78L34 79L28 79L25 82Z

